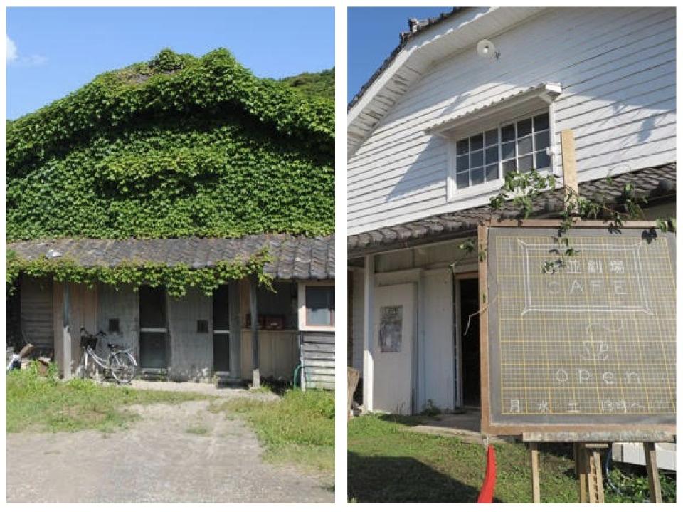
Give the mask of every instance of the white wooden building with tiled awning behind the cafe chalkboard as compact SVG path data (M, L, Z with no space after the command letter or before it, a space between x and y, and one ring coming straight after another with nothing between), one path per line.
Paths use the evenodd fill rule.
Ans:
M404 414L480 403L477 261L458 246L507 169L561 177L572 130L582 195L618 204L630 182L648 219L671 217L676 182L674 9L475 7L409 28L347 124L349 363L366 409Z

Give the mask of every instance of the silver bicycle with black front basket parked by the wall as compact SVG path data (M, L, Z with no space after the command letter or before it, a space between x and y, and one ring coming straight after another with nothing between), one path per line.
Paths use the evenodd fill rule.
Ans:
M107 343L109 355L106 359L98 356L95 352L97 343L100 343L105 336L106 334L101 330L92 335L85 328L80 328L80 346L83 348L83 355L80 357L80 366L78 367L80 377L83 379L93 378L92 375L100 377L101 369L102 376L110 372L116 382L127 384L135 376L137 362L127 349L114 343Z

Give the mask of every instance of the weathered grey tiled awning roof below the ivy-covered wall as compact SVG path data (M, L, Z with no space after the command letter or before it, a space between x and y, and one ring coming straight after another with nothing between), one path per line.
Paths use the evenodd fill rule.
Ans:
M116 266L139 261L213 266L216 261L245 260L264 247L272 257L264 270L276 279L334 278L334 236L306 238L285 234L250 235L240 239L54 239L18 241L7 248L21 258L34 259L57 251L83 266Z

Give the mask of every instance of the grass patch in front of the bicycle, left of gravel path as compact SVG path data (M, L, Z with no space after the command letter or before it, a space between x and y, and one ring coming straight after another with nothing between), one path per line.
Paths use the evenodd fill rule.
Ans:
M50 377L39 377L36 366L31 365L7 375L7 432L109 432L137 419L137 414L124 410L125 406L202 398L196 393L133 390L91 380L61 381L54 369Z

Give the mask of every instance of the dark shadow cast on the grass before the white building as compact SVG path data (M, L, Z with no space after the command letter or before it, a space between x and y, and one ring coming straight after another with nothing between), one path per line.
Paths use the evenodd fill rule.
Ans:
M348 457L349 500L359 503L477 503L479 489L435 471L412 457L361 456L353 451L349 451Z

